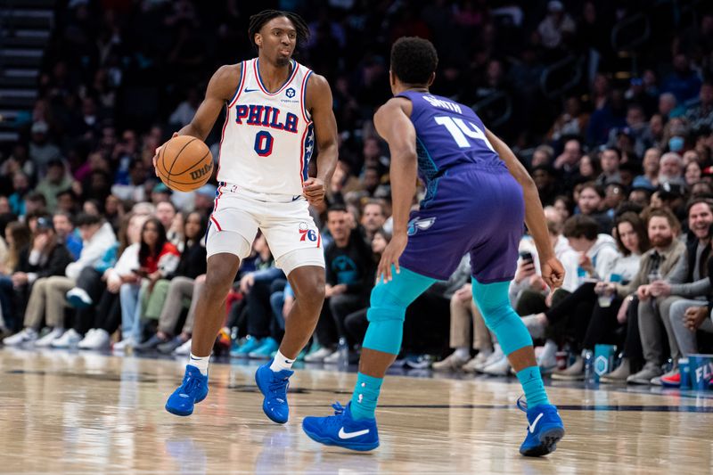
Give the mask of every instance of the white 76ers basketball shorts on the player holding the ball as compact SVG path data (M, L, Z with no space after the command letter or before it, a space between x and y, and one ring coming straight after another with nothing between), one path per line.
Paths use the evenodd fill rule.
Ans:
M322 236L308 209L303 196L266 195L221 184L206 233L208 257L221 252L248 257L259 229L285 275L300 266L324 267Z

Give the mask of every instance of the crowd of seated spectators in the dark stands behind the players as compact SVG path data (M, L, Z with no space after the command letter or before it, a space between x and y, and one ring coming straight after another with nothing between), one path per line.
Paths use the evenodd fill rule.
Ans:
M586 352L613 343L624 363L612 381L676 381L678 357L699 350L695 331L713 331L713 12L673 2L65 2L39 98L20 118L20 141L2 151L5 345L190 348L215 177L172 192L152 156L192 119L217 66L254 55L248 20L270 6L307 20L297 58L329 80L340 131L328 200L312 209L328 285L307 362L358 354L390 236L389 151L372 116L390 96L390 44L416 35L438 49L433 94L473 105L512 144L545 205L564 288L545 287L527 235L511 288L543 344L543 370L581 379ZM635 18L652 34L622 54L612 27ZM218 133L207 139L216 158ZM409 308L405 364L425 367L430 354L447 356L436 370L509 372L471 305L468 266L464 258ZM258 237L227 300L231 354L275 352L293 301ZM571 364L556 370L562 349Z

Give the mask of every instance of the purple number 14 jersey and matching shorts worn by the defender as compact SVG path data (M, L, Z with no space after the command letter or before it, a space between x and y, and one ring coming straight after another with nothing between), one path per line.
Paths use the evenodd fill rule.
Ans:
M399 264L447 280L470 253L479 283L511 280L523 231L522 188L488 142L482 121L444 97L414 91L398 96L414 104L418 170L426 184Z

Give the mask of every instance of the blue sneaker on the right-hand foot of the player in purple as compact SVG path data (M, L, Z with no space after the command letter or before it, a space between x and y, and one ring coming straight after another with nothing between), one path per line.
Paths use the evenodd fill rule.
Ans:
M529 409L526 403L518 400L520 410L528 414L528 435L520 446L520 454L528 457L540 457L553 453L557 442L564 437L564 424L557 408L550 404L536 405Z

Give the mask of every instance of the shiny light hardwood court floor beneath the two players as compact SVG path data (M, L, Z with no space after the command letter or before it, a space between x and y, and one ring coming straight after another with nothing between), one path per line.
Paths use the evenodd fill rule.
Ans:
M567 435L553 455L519 455L527 421L517 380L389 376L381 447L313 442L306 415L348 402L355 373L322 365L291 380L291 419L262 413L256 362L212 364L190 417L163 405L178 360L0 349L0 472L12 473L710 473L713 392L549 386ZM430 372L417 374L429 375Z

